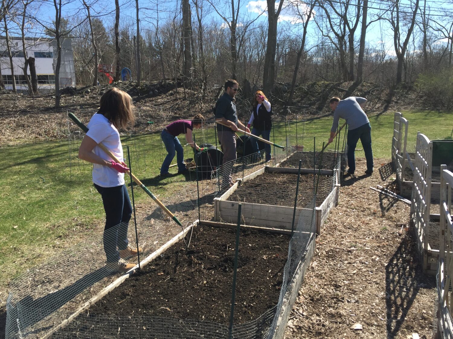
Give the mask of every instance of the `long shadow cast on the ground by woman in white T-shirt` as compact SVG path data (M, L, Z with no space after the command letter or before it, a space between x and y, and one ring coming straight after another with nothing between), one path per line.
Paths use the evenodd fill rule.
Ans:
M58 311L60 307L72 300L79 293L83 292L87 287L94 285L96 282L111 274L111 271L106 266L103 266L92 273L86 274L73 284L64 287L61 290L49 293L37 299L28 295L17 302L13 302L12 307L8 307L8 313L5 317L6 324L9 324L10 327L7 329L9 336L15 337L14 335L19 335L19 328L21 338L30 334L42 335L43 331L50 330L55 325L53 321L43 322L43 325L34 325ZM67 318L67 316L63 317L64 319ZM58 316L58 318L60 318L60 316ZM49 323L51 325L48 325Z

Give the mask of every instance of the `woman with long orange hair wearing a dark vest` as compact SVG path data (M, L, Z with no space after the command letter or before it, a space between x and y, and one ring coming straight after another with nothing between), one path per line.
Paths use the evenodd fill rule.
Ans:
M253 123L252 134L259 137L262 136L263 139L269 141L270 139L270 129L272 128L272 109L270 108L270 102L264 95L262 91L256 91L255 100L253 101L252 114L247 124L247 127L250 128L250 125ZM253 151L259 152L258 142L255 138L250 139ZM266 161L270 161L270 145L265 145L266 150Z

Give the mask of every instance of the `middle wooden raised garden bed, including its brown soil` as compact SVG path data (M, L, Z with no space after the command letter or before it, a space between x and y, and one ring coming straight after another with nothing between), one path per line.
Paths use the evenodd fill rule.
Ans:
M300 213L309 218L313 212L312 208L304 207L313 199L313 174L301 174L298 207L294 216L297 174L288 174L285 171L288 169L265 167L244 177L243 181L240 180L241 186L237 182L220 198L214 199L214 220L236 222L235 211L239 202L242 203L242 222L246 225L291 230L293 217L295 222L299 220ZM330 210L337 205L339 184L336 178L337 175L319 177L319 207L316 207L315 211L317 234L320 234L321 226Z

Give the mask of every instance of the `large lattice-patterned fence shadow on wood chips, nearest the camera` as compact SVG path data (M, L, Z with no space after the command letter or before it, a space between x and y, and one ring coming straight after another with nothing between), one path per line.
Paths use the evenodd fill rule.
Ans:
M406 233L386 265L387 338L399 337L401 325L422 288L435 288L435 278L421 271L415 245Z

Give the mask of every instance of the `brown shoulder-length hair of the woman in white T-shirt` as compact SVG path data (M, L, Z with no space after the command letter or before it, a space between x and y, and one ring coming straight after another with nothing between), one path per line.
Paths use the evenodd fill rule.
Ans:
M102 94L97 113L106 117L116 128L126 128L128 123L134 126L132 98L121 89L112 87Z

